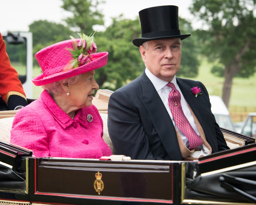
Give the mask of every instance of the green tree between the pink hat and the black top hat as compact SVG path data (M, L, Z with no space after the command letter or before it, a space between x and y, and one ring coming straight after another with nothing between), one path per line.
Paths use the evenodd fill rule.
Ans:
M139 19L113 18L105 32L95 34L97 52L109 53L106 68L95 74L101 88L116 90L141 75L144 63L139 49L131 42L140 33Z

